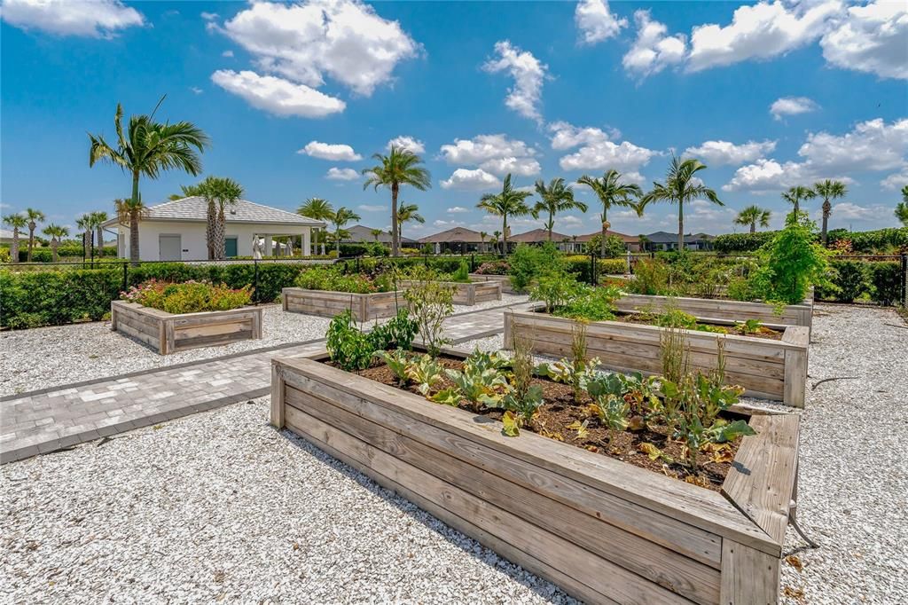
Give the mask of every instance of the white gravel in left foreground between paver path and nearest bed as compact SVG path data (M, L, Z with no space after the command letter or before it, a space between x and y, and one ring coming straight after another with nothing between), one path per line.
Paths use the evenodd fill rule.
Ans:
M566 603L239 403L0 467L5 603Z

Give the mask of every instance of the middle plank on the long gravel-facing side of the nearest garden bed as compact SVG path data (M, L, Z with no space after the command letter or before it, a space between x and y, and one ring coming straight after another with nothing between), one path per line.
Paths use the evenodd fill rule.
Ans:
M284 402L333 427L366 441L401 461L467 491L499 508L517 514L627 570L700 603L719 597L719 574L714 568L637 537L592 515L548 499L545 495L502 480L447 451L431 448L405 434L345 411L307 392L285 387ZM291 413L291 412L289 412Z

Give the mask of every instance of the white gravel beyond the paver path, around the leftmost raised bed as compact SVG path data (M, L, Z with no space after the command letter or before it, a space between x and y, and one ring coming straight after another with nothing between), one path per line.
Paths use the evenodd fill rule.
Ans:
M472 307L455 306L455 313L475 312L504 304L526 302L526 296L503 294L500 301ZM174 363L198 362L236 352L288 342L321 339L330 318L283 312L281 305L264 305L261 341L233 342L159 355L150 347L118 332L110 322L0 332L0 395L82 382L126 372L149 370Z

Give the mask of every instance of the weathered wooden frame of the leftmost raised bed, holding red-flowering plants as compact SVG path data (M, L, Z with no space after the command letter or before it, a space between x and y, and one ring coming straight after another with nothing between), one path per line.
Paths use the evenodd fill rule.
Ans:
M137 302L111 302L111 330L144 342L162 355L262 338L262 307L169 313Z

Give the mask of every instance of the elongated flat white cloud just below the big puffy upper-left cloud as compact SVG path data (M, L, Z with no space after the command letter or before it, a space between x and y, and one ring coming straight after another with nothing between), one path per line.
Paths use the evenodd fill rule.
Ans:
M241 96L253 107L275 115L324 117L342 112L347 106L341 99L310 86L293 84L273 75L221 69L212 74L212 82L229 93Z

